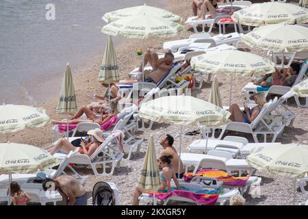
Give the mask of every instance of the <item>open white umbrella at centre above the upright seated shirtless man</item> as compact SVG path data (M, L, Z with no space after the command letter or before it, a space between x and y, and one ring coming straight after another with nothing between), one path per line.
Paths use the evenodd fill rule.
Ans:
M218 127L227 123L227 119L231 115L229 111L193 96L163 96L142 103L138 114L140 118L157 123L181 125L180 158L183 125L200 124L207 127ZM207 151L207 144L205 148Z

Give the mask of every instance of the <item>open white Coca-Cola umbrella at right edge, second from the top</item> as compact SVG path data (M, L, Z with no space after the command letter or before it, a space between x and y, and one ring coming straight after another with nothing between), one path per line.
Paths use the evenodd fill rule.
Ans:
M308 30L300 25L285 23L265 25L253 29L241 38L249 47L274 52L299 52L308 50Z

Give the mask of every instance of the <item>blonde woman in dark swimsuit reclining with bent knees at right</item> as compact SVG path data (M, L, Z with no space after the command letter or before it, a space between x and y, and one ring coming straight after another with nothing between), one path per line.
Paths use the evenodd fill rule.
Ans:
M255 103L257 106L249 109L246 105L244 106L244 112L240 110L240 107L237 104L233 104L229 107L229 112L231 112L230 119L233 122L242 122L242 123L252 123L255 118L257 118L259 112L261 112L262 107L266 103L265 96L262 92L256 93L253 95Z

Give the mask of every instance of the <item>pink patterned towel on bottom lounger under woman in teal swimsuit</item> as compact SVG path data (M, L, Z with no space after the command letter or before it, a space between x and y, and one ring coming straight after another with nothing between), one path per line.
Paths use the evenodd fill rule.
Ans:
M153 192L150 193L150 196L153 197ZM166 198L169 198L170 196L179 196L183 198L189 198L192 201L195 201L197 203L201 203L203 205L215 205L219 194L201 194L201 193L195 193L190 192L186 190L174 190L172 192L155 192L155 197L159 200L165 200Z

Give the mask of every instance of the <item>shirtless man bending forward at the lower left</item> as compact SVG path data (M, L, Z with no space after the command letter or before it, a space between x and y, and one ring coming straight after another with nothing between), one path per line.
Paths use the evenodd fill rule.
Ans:
M68 175L61 175L55 179L44 179L42 187L44 191L52 188L60 192L65 205L87 205L88 195L84 186L77 179Z

